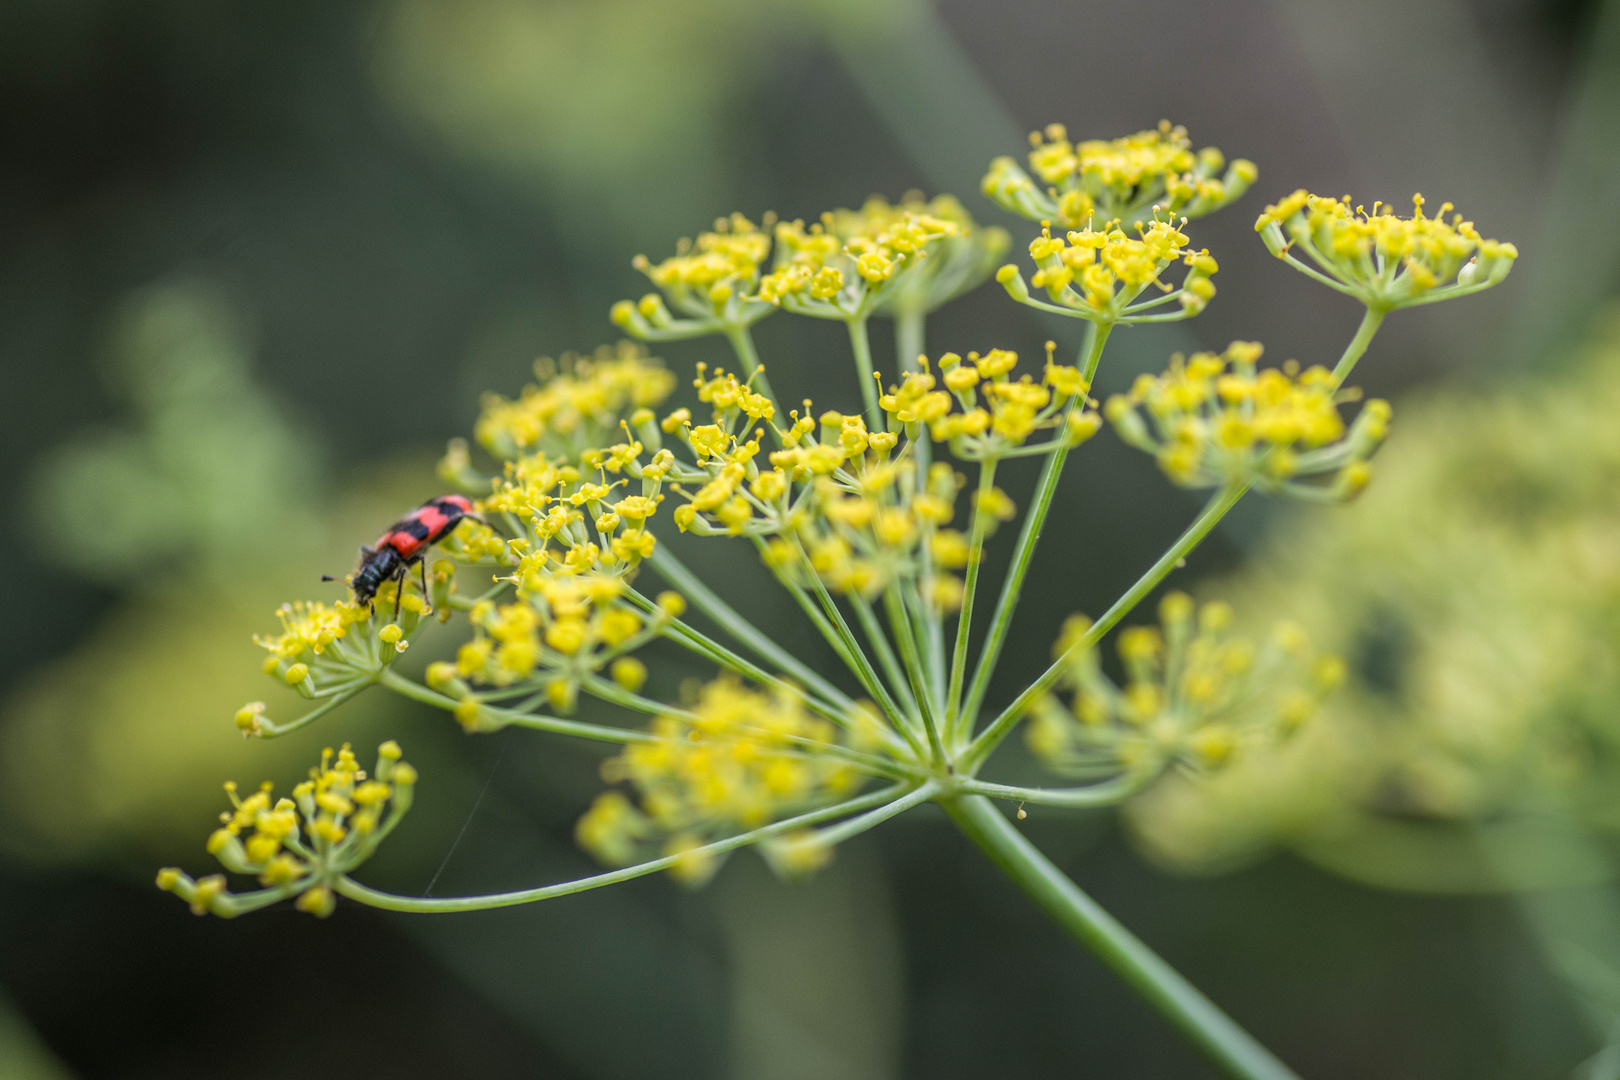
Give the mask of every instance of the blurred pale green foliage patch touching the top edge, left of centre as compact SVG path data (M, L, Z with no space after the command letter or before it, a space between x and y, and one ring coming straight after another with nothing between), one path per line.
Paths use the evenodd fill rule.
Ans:
M735 186L729 126L786 42L909 13L909 0L390 0L373 70L436 139L648 243ZM656 173L651 189L627 176ZM583 210L583 212L578 212ZM612 256L616 257L616 256ZM612 257L609 261L612 261Z

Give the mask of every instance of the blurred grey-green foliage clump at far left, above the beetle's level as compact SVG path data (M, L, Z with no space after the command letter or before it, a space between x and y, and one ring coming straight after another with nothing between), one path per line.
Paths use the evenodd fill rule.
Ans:
M306 552L321 528L318 444L253 384L248 332L220 287L143 290L110 338L102 377L131 423L81 431L37 466L50 555L112 585L156 570L230 581Z

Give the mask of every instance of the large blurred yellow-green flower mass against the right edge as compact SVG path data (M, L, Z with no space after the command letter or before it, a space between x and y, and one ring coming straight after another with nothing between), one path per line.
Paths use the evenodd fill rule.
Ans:
M1555 381L1401 408L1361 502L1283 525L1220 594L1351 661L1299 737L1131 811L1155 858L1283 845L1359 881L1604 879L1620 832L1620 322Z

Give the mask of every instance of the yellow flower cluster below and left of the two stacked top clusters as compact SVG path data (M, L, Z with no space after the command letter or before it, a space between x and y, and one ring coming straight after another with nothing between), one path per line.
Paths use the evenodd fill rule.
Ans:
M949 442L951 452L962 460L1008 457L1037 431L1055 427L1063 427L1063 432L1043 449L1061 444L1076 447L1097 434L1102 421L1097 413L1084 410L1089 385L1081 371L1055 364L1053 348L1055 343L1047 342L1047 368L1040 382L1027 374L1014 381L1017 353L1004 348L993 348L983 356L969 353L966 361L946 353L940 358L938 379L923 356L919 358L922 371L889 387L878 405L906 431L927 424L928 434L936 442ZM946 389L936 390L938 382L944 382ZM961 411L951 411L953 397Z

